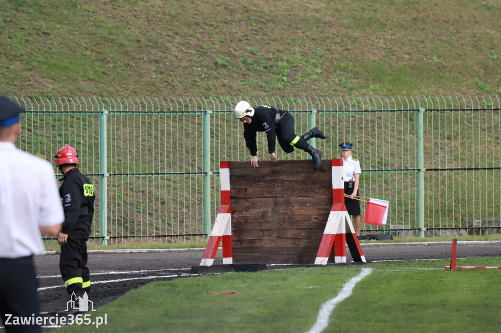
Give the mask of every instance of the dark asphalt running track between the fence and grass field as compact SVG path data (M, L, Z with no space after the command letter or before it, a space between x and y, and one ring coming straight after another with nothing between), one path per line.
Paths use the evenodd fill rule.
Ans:
M451 255L451 242L418 243L362 243L368 262L402 259L447 259ZM94 308L106 304L126 293L155 280L189 278L192 266L198 266L203 248L156 250L94 250L89 251L92 293L89 299ZM497 256L501 259L501 241L458 241L457 257ZM347 260L351 261L347 249ZM64 310L69 300L59 273L59 253L48 252L35 258L41 311L54 316ZM222 264L221 250L214 265ZM499 264L501 266L501 262ZM50 327L44 328L48 330ZM4 329L0 328L0 331Z

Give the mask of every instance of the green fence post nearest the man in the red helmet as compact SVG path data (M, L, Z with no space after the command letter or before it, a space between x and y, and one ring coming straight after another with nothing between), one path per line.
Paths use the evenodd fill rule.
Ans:
M99 114L99 237L101 245L107 245L108 239L108 186L106 165L106 115L108 110Z

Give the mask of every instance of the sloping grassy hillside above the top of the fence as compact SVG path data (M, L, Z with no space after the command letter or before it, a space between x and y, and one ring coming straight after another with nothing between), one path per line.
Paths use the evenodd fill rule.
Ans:
M17 96L501 94L501 2L0 0Z

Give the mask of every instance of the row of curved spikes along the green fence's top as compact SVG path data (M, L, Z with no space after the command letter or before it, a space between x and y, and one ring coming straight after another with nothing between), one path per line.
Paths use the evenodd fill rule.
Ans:
M436 110L499 110L501 99L498 95L487 96L273 96L273 97L72 97L72 96L13 96L14 101L27 111L53 112L93 112L108 111L134 112L176 112L204 109L232 110L240 99L251 104L268 104L290 111L330 110L330 111L398 111L425 108Z

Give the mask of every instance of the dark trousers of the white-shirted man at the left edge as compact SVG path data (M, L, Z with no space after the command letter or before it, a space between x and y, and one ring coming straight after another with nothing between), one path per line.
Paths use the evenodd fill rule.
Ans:
M0 258L0 317L38 317L40 300L33 256ZM10 322L13 321L11 317ZM33 320L33 319L32 319ZM39 325L4 325L8 332L41 332Z

